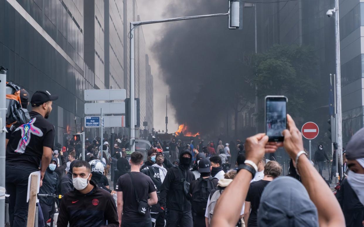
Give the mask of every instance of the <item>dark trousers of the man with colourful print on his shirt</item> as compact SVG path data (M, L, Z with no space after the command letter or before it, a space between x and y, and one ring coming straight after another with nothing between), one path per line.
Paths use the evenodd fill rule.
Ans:
M10 226L27 226L28 219L28 177L37 168L21 165L5 165L5 189L9 196Z

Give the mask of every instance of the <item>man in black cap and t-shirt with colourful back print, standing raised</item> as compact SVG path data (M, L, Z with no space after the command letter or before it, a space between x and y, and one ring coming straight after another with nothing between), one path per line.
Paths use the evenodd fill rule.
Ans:
M52 101L58 96L37 91L31 99L31 120L13 130L6 149L5 187L9 196L10 226L24 227L27 223L27 188L29 174L40 169L44 177L52 158L54 127L46 119L52 111Z

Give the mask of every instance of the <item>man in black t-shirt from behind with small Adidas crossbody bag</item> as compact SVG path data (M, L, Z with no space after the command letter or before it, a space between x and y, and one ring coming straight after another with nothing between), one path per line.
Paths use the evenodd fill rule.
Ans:
M144 215L139 214L135 194L138 195L139 201L148 201L148 205L152 206L158 202L157 188L149 176L140 172L143 165L141 153L134 152L130 155L130 165L131 172L122 175L115 187L118 193L119 223L121 227L151 227L150 209L148 208Z

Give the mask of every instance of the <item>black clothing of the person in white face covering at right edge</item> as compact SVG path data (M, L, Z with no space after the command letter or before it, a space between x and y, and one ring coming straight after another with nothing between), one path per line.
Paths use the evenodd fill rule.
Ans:
M359 201L347 178L343 180L340 190L336 193L336 198L343 210L346 226L362 226L364 206Z

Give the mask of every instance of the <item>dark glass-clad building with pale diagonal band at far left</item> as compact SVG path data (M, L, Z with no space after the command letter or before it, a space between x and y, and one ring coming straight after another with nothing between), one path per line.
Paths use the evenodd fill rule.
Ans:
M62 144L64 134L81 131L83 90L94 86L84 74L83 6L78 0L0 1L0 64L9 69L7 80L29 94L59 95L49 121Z

